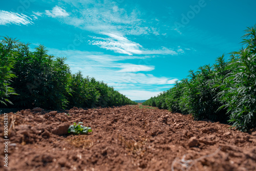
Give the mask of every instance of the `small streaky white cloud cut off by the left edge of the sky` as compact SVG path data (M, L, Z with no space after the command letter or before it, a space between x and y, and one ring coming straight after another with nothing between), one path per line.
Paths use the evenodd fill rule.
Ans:
M0 10L0 25L7 24L29 25L33 22L27 15Z

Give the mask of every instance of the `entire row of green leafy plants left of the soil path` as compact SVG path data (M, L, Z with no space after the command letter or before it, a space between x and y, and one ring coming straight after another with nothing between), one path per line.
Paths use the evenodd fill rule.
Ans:
M65 58L47 54L44 46L9 37L0 40L0 108L64 109L137 104L94 78L72 74ZM86 63L84 63L86 67Z

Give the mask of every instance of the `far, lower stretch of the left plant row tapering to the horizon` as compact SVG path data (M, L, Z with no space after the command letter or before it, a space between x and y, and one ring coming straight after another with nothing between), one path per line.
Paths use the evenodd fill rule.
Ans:
M118 106L126 104L137 104L124 95L108 87L103 81L95 78L83 78L81 72L72 75L71 95L69 96L69 106L95 108L97 106Z

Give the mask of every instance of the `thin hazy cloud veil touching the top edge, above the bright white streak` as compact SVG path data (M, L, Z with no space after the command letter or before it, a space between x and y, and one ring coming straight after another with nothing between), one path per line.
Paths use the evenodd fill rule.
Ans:
M99 32L118 32L122 35L159 35L159 28L152 27L151 22L145 22L146 14L136 5L132 9L121 8L116 1L79 1L64 0L79 10L73 10L67 17L67 24L81 29ZM78 17L79 16L79 17ZM155 20L155 22L157 22Z

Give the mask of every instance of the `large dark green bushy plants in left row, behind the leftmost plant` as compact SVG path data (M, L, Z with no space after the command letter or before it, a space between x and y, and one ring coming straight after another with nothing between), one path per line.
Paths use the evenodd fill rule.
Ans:
M65 58L55 58L47 54L44 46L29 51L29 44L18 44L14 52L16 74L11 86L19 96L11 96L15 106L44 109L62 109L67 106L70 71Z

